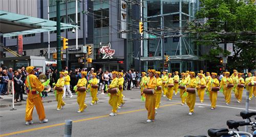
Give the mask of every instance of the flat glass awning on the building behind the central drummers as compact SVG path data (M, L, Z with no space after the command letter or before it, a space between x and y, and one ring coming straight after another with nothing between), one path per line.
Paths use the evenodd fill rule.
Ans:
M139 58L135 58L136 60L139 60ZM198 56L193 56L190 54L185 54L185 55L177 55L177 56L170 56L170 59L172 61L174 60L192 60L192 61L198 61L200 58ZM163 57L158 56L158 57L141 57L141 61L162 61Z

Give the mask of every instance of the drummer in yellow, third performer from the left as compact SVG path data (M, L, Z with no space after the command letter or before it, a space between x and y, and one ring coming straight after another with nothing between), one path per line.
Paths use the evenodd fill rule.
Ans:
M86 76L87 76L87 72L86 71L82 71L81 72L81 77L79 80L78 80L78 83L77 83L77 88L79 87L86 87L87 85L87 79L86 79ZM77 91L77 103L79 105L79 109L78 109L78 112L77 113L82 113L84 111L84 109L86 109L87 105L84 103L84 100L86 99L86 90L85 91Z

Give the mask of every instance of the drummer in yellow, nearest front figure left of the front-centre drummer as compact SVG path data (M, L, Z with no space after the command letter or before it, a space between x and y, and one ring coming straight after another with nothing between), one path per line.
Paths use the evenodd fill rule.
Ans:
M118 78L117 78L117 71L113 71L112 72L112 77L113 80L111 82L111 84L108 86L110 89L116 88L117 89L117 93L114 94L110 94L110 100L109 100L109 104L112 106L112 113L110 114L110 116L116 116L117 115L117 102L120 96L120 91L119 91L119 85L118 85ZM108 92L108 91L107 91Z

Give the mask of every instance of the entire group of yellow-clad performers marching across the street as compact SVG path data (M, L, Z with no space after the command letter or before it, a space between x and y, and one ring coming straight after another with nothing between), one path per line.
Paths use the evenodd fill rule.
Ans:
M39 117L39 123L46 123L48 120L46 119L44 105L42 104L40 98L40 92L45 90L43 84L37 79L34 75L35 69L33 66L29 66L26 68L29 73L27 80L25 82L28 90L28 99L26 104L26 115L25 121L26 125L33 124L32 122L32 114L33 108L36 107L36 111ZM250 92L250 99L252 98L252 94L254 93L254 97L256 96L256 77L251 76L251 73L248 73L248 77L244 80L242 78L242 73L238 73L234 70L234 73L229 76L229 72L225 72L225 76L221 79L221 82L217 79L217 73L212 72L211 75L209 72L206 73L206 76L203 74L201 70L200 73L195 74L195 72L186 71L181 73L181 78L179 77L179 72L175 72L175 75L172 77L172 73L156 71L154 69L150 69L146 72L141 72L141 98L145 98L145 107L147 109L147 121L153 122L156 116L156 110L159 109L161 96L166 96L168 100L172 100L173 92L175 91L175 95L177 95L178 90L180 91L181 97L181 105L185 103L189 107L189 114L193 115L194 107L196 103L196 91L200 98L200 101L204 101L204 93L205 91L209 93L209 98L211 101L211 109L216 108L217 102L217 94L218 91L223 91L225 96L226 104L230 102L231 98L231 89L234 91L238 102L242 100L242 92L243 88ZM78 111L77 113L82 113L84 109L86 109L87 105L84 103L86 99L86 94L88 90L91 92L92 101L90 105L97 104L99 99L97 98L98 92L98 79L96 78L96 73L91 73L92 78L88 81L87 71L81 72L81 78L78 80L78 83L75 88L75 92L77 93L77 103L78 103ZM65 85L65 72L59 72L59 79L54 86L54 91L57 100L57 111L65 106L65 102L62 100L63 96L63 87ZM116 116L117 110L122 107L125 103L123 100L123 73L118 71L112 72L112 82L107 88L107 93L109 94L109 104L112 106L112 112L110 116Z

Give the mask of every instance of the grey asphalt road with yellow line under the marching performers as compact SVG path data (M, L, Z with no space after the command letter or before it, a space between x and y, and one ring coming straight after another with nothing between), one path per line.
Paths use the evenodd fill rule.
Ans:
M245 94L245 92L244 92ZM66 98L66 106L56 111L57 102L44 103L48 123L39 124L34 109L32 125L25 125L25 105L0 108L0 136L63 136L67 119L73 120L72 136L184 136L207 134L209 128L226 127L226 121L242 120L241 111L245 108L245 95L242 103L237 103L234 95L230 105L226 105L222 93L219 93L217 108L210 109L209 98L200 103L197 97L195 113L188 115L188 106L180 105L179 94L172 101L161 98L161 107L157 111L155 122L147 123L147 112L144 102L140 101L140 91L124 91L125 104L118 115L110 117L109 97L99 94L97 105L90 106L88 94L85 112L77 114L76 98ZM256 98L250 101L250 111L256 111ZM244 130L244 128L241 128Z

